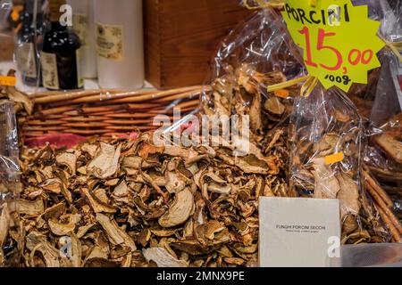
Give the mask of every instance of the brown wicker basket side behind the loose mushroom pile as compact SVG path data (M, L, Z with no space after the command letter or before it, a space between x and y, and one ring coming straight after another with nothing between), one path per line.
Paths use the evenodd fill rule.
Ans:
M24 138L46 134L80 134L110 137L133 131L153 130L158 114L172 118L173 108L181 114L197 110L201 86L167 91L88 90L72 93L34 94L32 115L22 118Z

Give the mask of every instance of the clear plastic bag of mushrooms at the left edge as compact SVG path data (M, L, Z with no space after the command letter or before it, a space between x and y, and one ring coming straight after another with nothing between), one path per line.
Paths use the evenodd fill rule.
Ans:
M21 191L17 124L13 102L0 100L0 266L18 265L19 220L16 201Z

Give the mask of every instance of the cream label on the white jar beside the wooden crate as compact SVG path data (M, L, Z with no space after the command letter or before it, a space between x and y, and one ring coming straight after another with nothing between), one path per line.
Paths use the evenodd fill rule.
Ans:
M123 59L123 28L96 23L97 55L107 60Z

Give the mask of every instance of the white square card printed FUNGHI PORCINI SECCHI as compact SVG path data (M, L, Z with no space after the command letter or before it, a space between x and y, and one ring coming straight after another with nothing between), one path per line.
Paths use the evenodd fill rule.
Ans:
M338 258L338 199L261 197L258 212L260 266L323 267Z

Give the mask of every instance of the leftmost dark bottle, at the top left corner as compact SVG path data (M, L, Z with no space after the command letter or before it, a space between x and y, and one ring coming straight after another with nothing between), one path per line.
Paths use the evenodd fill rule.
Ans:
M39 54L46 21L40 7L44 0L26 0L17 28L15 59L25 85L40 84Z

